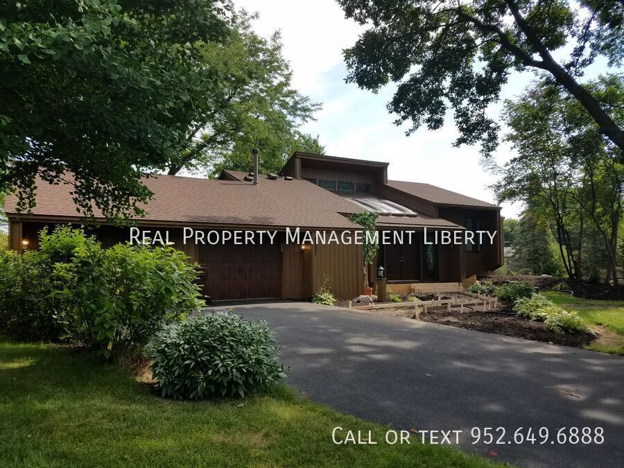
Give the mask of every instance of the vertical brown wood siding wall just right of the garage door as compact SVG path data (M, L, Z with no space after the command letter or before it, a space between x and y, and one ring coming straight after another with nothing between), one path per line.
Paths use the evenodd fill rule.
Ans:
M316 291L327 277L338 299L352 299L364 287L362 245L312 245L312 283Z

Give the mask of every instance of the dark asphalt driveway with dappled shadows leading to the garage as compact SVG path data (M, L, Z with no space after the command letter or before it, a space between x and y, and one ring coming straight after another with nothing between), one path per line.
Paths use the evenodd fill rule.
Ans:
M623 357L308 303L234 310L273 324L289 384L345 413L401 429L460 430L460 448L522 466L624 460ZM475 427L496 437L505 428L504 442L532 428L537 439L472 444ZM592 436L603 428L604 442L557 443L557 431L571 427Z

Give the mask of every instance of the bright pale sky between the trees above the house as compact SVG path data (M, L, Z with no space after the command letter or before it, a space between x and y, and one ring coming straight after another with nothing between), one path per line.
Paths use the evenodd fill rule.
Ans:
M480 165L479 146L453 147L458 132L451 116L439 130L420 128L407 137L406 126L395 125L396 116L386 109L395 85L373 94L345 83L342 51L356 42L363 29L345 19L335 0L234 1L237 8L259 13L254 30L260 35L281 31L284 56L293 69L293 87L323 105L316 121L306 123L302 130L319 135L327 155L390 162L390 179L427 182L495 201L488 186L496 177ZM530 72L513 73L502 98L520 94L533 77ZM492 107L494 116L501 107ZM512 148L501 145L494 159L504 164L512 155ZM522 209L519 204L502 207L505 217L517 217Z

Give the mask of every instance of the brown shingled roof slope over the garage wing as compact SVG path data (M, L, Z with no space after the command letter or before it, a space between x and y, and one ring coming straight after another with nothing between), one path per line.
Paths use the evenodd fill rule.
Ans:
M344 198L306 180L268 180L258 185L232 180L207 180L159 175L145 180L153 191L146 206L146 221L200 223L205 225L254 225L306 229L354 229L358 225L339 213L357 208ZM33 215L76 218L67 184L37 180L37 206ZM6 213L15 215L17 197L6 198ZM94 209L96 218L101 212ZM27 215L26 215L27 216Z

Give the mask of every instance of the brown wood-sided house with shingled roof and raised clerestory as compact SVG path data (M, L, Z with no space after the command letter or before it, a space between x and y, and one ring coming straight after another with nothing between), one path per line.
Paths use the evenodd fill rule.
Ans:
M337 297L361 294L362 245L293 243L287 230L351 232L361 227L347 216L363 210L378 214L380 232L413 233L411 242L380 246L377 265L369 270L372 283L376 266L385 269L391 289L404 292L412 284L465 285L503 263L499 207L430 184L388 180L388 163L297 152L279 175L255 179L254 173L225 170L218 180L162 175L145 183L154 196L137 227L151 236L166 231L175 247L200 264L205 293L214 300L309 299L323 281ZM37 232L43 227L81 223L70 186L37 186L31 214L17 213L15 197L6 201L10 247L15 250L37 248ZM92 232L103 243L130 240L129 227L98 221ZM275 237L270 243L229 240L211 245L185 239L189 228L215 234L266 229ZM466 230L496 236L493 242L433 243L435 232Z

